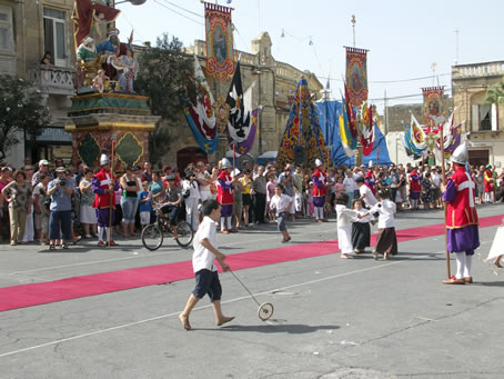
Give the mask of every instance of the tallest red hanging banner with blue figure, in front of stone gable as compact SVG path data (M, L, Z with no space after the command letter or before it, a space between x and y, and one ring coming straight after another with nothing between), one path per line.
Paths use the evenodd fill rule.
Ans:
M233 28L231 8L204 3L206 37L206 72L225 81L234 72Z

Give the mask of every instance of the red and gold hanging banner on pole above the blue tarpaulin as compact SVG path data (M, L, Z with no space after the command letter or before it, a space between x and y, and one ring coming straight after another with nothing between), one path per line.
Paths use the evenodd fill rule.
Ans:
M367 50L346 48L346 88L352 107L367 100Z

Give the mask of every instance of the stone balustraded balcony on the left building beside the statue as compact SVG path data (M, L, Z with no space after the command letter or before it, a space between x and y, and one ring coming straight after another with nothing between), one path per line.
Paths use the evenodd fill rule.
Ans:
M28 71L28 77L42 93L61 96L74 93L74 69L36 64Z

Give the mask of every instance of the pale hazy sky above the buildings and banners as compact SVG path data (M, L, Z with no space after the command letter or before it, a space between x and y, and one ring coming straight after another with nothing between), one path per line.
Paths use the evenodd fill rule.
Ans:
M232 0L229 7L234 8L235 49L250 52L252 39L268 31L276 61L314 72L324 86L330 77L335 98L343 88L343 47L353 46L351 16L355 14L355 47L370 50L370 99L379 110L385 92L389 106L421 103L421 88L433 84L451 93L455 61L504 60L502 0ZM147 0L142 6L117 8L122 11L117 28L123 39L134 29L135 43L154 44L162 33L187 47L204 40L200 0Z

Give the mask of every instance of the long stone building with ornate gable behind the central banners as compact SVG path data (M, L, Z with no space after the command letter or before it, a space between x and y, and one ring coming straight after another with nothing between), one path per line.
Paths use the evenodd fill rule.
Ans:
M306 79L310 92L313 93L314 99L321 97L323 88L314 73L299 70L289 63L275 61L271 53L271 47L270 36L268 32L262 32L252 40L251 53L234 51L234 57L236 57L241 66L243 90L245 91L254 81L256 82L252 91L252 104L260 109L259 136L255 138L254 146L250 151L252 158L256 158L266 151L276 151L279 149L294 91L302 76ZM204 41L196 40L194 46L187 49L187 52L195 53L203 69L205 68L206 47ZM225 99L231 78L225 82L218 82L210 77L206 79L214 98L222 97ZM198 148L189 127L183 123L179 129L180 133L178 134L180 137L171 146L167 154L168 161L180 161L179 156L189 150L193 153L200 151L199 158L216 161L222 158L223 150L229 150L229 147L225 146L218 153L203 157L204 153ZM226 141L224 143L228 144Z

